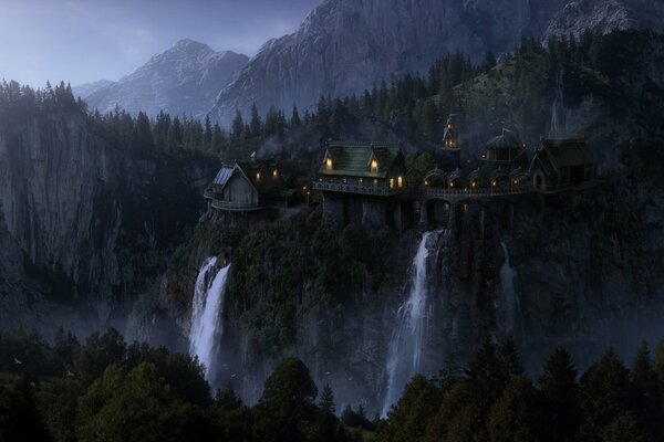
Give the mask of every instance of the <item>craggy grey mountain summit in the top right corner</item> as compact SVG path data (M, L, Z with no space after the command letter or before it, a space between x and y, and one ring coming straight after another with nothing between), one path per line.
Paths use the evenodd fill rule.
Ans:
M551 35L581 35L591 30L608 33L646 25L655 30L664 27L664 4L646 0L578 0L557 13L542 34L542 42Z

